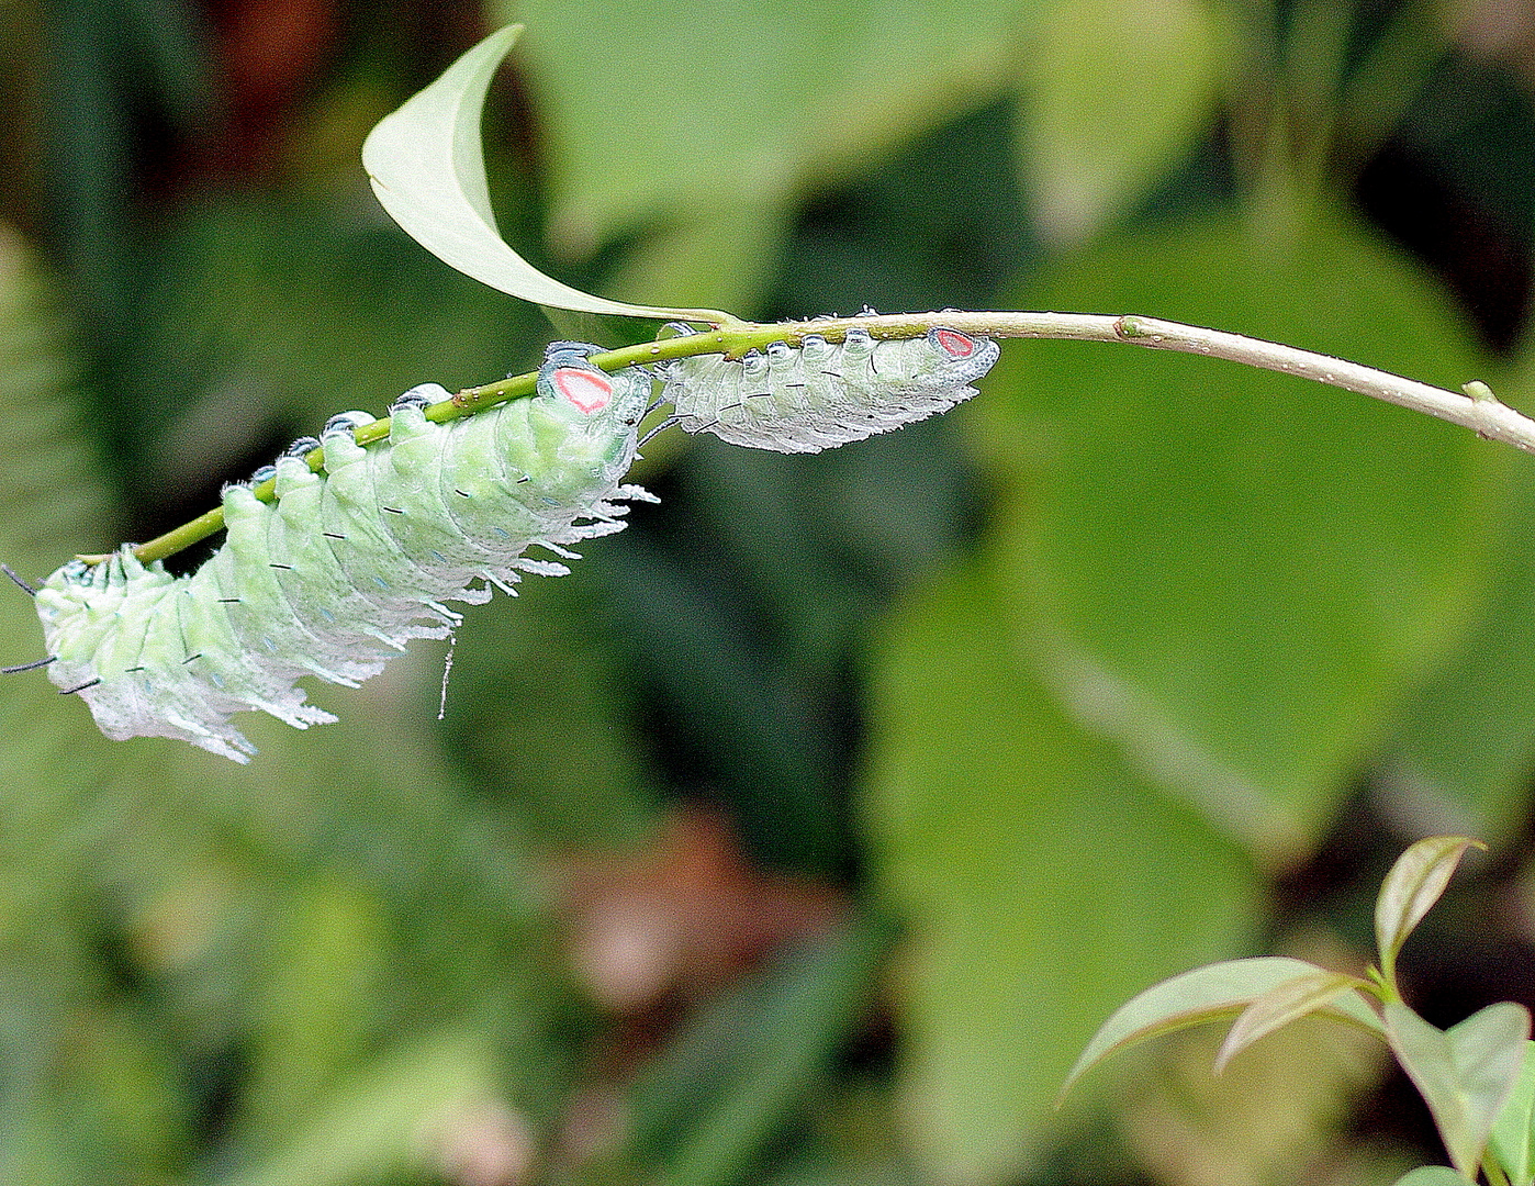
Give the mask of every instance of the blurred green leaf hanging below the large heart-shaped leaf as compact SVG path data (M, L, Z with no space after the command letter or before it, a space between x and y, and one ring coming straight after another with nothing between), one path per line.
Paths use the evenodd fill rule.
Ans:
M999 601L972 577L910 605L883 634L869 713L873 867L913 941L900 1092L944 1181L1038 1154L1102 1019L1246 950L1260 893L1236 844L1061 713Z

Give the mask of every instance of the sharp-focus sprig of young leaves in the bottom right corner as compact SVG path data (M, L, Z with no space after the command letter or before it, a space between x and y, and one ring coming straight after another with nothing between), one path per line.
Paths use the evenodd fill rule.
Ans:
M1535 1071L1527 1057L1530 1014L1504 1000L1449 1030L1401 1002L1397 954L1444 893L1471 847L1464 836L1429 836L1392 865L1375 899L1378 967L1365 977L1300 959L1263 956L1194 968L1141 993L1114 1013L1082 1051L1071 1085L1114 1051L1200 1022L1236 1017L1216 1054L1219 1074L1260 1037L1311 1014L1378 1034L1434 1114L1455 1172L1423 1166L1397 1186L1449 1186L1484 1171L1494 1186L1535 1183Z

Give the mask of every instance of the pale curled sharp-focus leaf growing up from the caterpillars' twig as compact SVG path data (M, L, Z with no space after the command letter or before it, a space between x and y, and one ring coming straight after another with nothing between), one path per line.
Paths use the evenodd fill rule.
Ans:
M362 167L379 204L437 259L523 301L629 318L732 321L717 310L631 305L583 293L543 275L500 238L479 124L490 80L520 32L519 25L493 32L368 133Z

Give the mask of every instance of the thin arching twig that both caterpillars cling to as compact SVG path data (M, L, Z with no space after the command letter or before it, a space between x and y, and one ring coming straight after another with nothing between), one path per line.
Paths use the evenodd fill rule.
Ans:
M1294 374L1319 384L1342 387L1388 404L1449 420L1469 428L1486 440L1501 440L1526 453L1535 453L1535 420L1514 411L1500 402L1486 384L1466 384L1464 393L1403 379L1374 367L1299 350L1259 338L1245 338L1222 330L1207 330L1197 325L1182 325L1176 321L1141 316L1110 316L1099 313L896 313L863 318L821 318L817 321L794 321L772 325L737 322L723 328L715 325L703 333L668 338L660 342L609 350L594 354L593 364L616 371L623 367L665 362L689 354L725 353L740 357L748 350L761 350L772 342L800 345L807 336L820 334L832 342L846 338L847 330L867 330L873 338L915 338L933 325L942 325L964 333L987 338L1044 338L1074 342L1117 342L1145 347L1147 350L1177 350L1187 354L1240 362L1248 367ZM496 407L508 399L530 396L534 391L534 376L519 374L484 387L471 387L450 400L427 408L427 417L439 423L471 416ZM388 436L388 420L376 420L358 431L358 443L367 445ZM315 450L307 456L312 469L319 471L324 453ZM262 482L253 491L258 499L275 499L273 483ZM149 563L203 540L224 526L223 511L213 509L198 516L190 523L140 545L134 554ZM98 560L104 557L83 557Z

